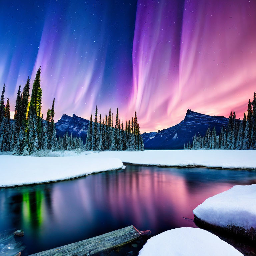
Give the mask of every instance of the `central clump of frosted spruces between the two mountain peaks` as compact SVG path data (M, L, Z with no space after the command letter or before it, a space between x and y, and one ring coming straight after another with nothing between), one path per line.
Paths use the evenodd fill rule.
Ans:
M112 115L113 116L113 115ZM125 121L125 129L123 127L123 119L119 119L118 108L116 112L115 127L113 127L113 117L111 118L111 109L109 114L101 119L99 115L98 123L98 107L96 106L95 119L88 125L87 137L85 143L87 151L144 151L143 139L140 134L140 125L138 123L137 113L130 120Z

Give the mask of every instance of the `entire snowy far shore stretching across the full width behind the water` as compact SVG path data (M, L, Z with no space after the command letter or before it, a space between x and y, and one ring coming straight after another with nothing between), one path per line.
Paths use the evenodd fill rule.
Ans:
M39 154L40 153L40 154ZM256 170L256 150L148 150L143 152L53 152L0 155L0 187L74 179L121 169L124 164Z

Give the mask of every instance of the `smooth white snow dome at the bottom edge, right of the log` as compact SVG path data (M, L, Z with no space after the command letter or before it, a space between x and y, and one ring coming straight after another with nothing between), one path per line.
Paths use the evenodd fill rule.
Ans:
M230 244L199 228L176 228L150 238L139 256L242 256Z

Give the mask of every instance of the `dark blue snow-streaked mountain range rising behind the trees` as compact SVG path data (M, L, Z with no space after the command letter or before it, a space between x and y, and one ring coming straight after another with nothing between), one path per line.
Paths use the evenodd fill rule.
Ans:
M73 114L73 116L62 115L55 123L57 138L66 132L72 136L83 137L86 141L89 120ZM145 149L182 149L184 144L192 143L196 133L205 136L209 125L215 127L217 135L220 134L221 126L226 127L228 118L224 116L209 116L187 110L184 120L170 128L158 132L145 132L142 134Z

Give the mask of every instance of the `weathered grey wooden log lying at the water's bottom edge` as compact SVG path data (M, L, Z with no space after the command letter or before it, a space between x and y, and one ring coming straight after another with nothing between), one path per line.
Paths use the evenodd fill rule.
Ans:
M150 236L151 232L139 231L133 225L121 228L100 236L80 242L60 246L47 251L31 254L30 256L91 256L99 255L114 248L123 246L140 237Z

